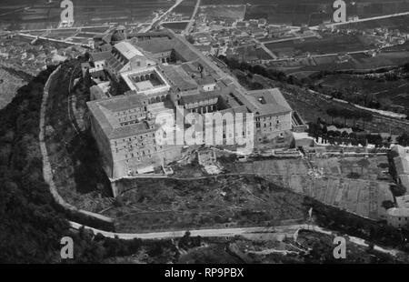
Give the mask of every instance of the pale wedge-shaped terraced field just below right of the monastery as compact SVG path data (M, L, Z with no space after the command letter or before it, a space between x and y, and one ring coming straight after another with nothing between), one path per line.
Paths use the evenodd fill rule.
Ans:
M394 202L386 156L314 157L311 164L304 159L270 159L232 166L229 171L258 174L277 186L375 220L385 219L385 201ZM323 174L313 176L313 166Z

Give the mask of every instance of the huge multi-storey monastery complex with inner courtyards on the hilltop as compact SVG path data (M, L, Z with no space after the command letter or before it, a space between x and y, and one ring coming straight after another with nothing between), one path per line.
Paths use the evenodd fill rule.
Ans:
M293 110L279 89L245 90L170 31L129 36L116 31L97 38L83 71L95 82L87 106L111 179L152 171L183 156L185 144L157 144L157 135L164 134L157 116L174 121L177 114L252 113L254 144L287 146L291 138Z

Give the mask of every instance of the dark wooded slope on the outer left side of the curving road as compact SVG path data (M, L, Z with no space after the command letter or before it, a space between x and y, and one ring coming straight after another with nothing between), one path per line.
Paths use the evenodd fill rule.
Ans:
M75 244L74 260L66 262L102 262L142 248L148 262L176 261L178 253L171 240L124 241L69 229L66 218L93 223L63 211L43 178L40 107L45 82L54 69L48 68L21 87L0 111L0 263L64 262L60 240L66 236L73 237Z

